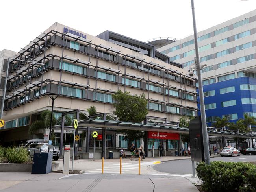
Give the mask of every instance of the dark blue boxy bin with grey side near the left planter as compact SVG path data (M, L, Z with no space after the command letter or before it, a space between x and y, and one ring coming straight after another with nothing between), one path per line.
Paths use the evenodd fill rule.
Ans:
M52 171L52 152L34 153L31 174L48 174Z

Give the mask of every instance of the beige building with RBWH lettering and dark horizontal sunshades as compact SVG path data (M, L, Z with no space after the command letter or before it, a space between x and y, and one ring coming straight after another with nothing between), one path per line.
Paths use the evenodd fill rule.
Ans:
M13 58L24 61L10 59L2 143L19 144L29 138L28 126L40 118L42 111L51 108L50 94L59 95L54 102L56 118L73 109L86 113L92 105L97 112L112 113L112 95L117 90L132 95L144 93L148 100L147 118L156 122L178 122L180 116L197 116L195 79L187 76L186 70L177 63L172 65L169 57L153 45L111 31L93 37L54 23ZM56 144L59 132L57 128L54 131ZM118 135L117 142L111 142L116 135L109 133L110 147L125 147L122 135ZM43 136L41 133L31 137ZM68 132L64 139L65 144L70 144ZM177 146L176 141L168 142L170 147L173 143Z

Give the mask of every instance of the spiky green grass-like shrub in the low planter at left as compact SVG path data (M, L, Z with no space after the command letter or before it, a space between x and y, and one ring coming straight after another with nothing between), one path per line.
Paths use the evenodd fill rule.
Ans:
M30 163L31 159L27 148L9 147L6 148L6 158L8 163Z

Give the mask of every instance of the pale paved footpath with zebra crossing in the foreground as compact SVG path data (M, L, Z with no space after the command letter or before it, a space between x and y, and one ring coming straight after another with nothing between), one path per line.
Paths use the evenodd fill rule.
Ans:
M130 161L122 159L122 174L119 174L119 159L105 159L104 174L101 174L101 159L95 161L80 159L74 161L74 170L83 174L50 173L46 175L0 172L1 192L198 192L193 183L197 178L191 175L172 175L157 172L152 168L165 161L190 159L190 157L149 157L141 161L141 174L138 175L138 158ZM62 169L63 160L59 163ZM70 169L72 161L70 161Z

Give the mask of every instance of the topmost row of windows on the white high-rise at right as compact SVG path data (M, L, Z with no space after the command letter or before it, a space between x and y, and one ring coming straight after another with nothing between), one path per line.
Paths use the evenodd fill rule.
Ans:
M245 20L236 22L235 24L233 24L233 28L240 27L240 26L245 25L245 24L247 24L247 23L249 23L249 19L248 19L248 18L245 19ZM214 35L219 35L219 34L221 34L221 33L224 33L224 32L226 32L226 31L228 31L228 30L229 30L228 26L227 26L227 27L224 27L224 28L221 28L221 29L219 29L219 30L214 31ZM208 38L210 38L210 33L208 33L208 34L206 34L206 35L202 35L201 37L198 37L198 41L202 41L202 40L208 39ZM241 37L240 37L240 38L241 38ZM228 38L226 38L226 39L228 39ZM222 41L222 40L220 40L220 41ZM225 41L226 41L226 40L225 40ZM168 53L170 53L170 52L173 52L173 51L178 50L178 49L180 49L180 48L184 48L184 47L189 46L189 45L194 44L194 43L195 43L195 41L194 41L194 39L192 39L192 40L189 40L189 41L187 41L187 42L182 43L182 46L177 45L177 46L171 47L171 48L169 48L169 49L167 49L167 50L163 50L161 53L163 53L163 54L168 54ZM219 44L220 42L215 42L215 43L216 43L216 46L219 46L219 45L220 45L220 44ZM224 44L224 43L223 43L223 44Z

